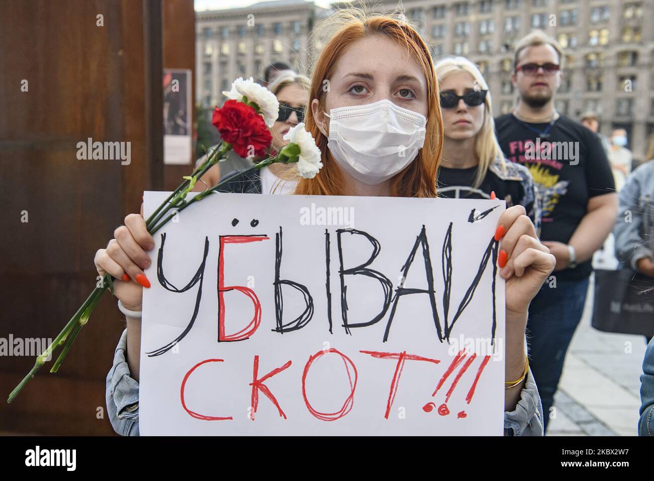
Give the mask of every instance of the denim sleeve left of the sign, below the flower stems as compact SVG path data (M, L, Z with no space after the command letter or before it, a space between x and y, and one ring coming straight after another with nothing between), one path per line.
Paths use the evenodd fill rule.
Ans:
M107 374L107 414L114 431L121 436L139 435L139 383L129 374L125 359L127 329L120 336L114 364Z

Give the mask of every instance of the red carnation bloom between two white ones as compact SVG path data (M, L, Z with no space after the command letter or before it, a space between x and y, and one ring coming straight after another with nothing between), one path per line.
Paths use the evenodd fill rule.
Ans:
M234 152L243 158L252 154L250 145L254 156L264 156L266 148L273 141L262 116L237 100L230 99L220 109L216 107L211 123L216 126L222 139L232 144Z

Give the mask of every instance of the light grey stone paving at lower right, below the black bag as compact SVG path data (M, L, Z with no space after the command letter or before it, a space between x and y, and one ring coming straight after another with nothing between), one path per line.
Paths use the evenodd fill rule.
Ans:
M592 279L591 279L592 280ZM636 436L644 336L591 327L593 283L566 356L548 436ZM590 307L590 308L589 308Z

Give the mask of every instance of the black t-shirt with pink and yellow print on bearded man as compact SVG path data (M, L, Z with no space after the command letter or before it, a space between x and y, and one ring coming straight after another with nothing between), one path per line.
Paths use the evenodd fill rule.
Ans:
M549 135L532 130L544 132L548 126L525 124L510 113L495 119L504 155L528 168L534 178L542 209L541 240L568 243L588 211L589 199L615 192L615 184L602 143L593 132L564 115ZM558 272L557 278L585 279L592 270L587 260Z

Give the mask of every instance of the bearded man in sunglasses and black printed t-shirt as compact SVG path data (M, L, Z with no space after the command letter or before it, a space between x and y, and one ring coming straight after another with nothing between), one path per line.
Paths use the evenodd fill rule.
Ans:
M545 427L572 335L581 319L591 258L617 215L613 175L600 140L554 107L562 50L543 31L515 47L512 113L495 120L509 160L532 173L542 207L540 238L557 258L555 272L529 308L530 367L543 402Z

